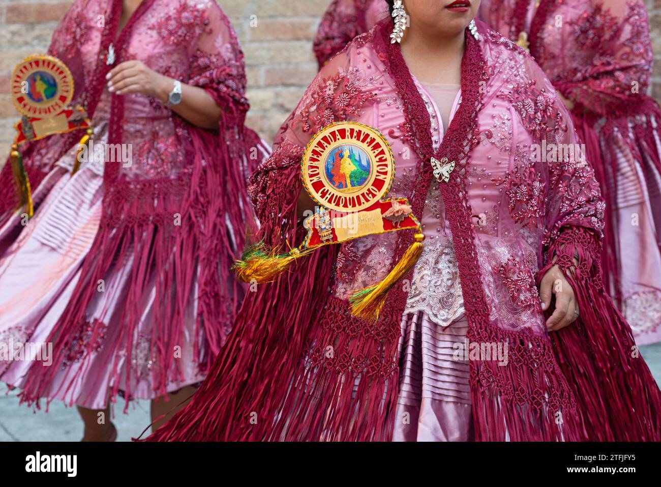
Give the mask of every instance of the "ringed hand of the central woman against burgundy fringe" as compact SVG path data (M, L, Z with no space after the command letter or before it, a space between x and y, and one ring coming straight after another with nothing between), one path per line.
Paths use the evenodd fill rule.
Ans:
M564 279L563 271L558 265L554 265L547 271L539 285L542 310L547 310L551 305L551 294L555 294L555 310L546 320L546 328L549 332L557 332L578 318L578 314L576 314L578 304L574 290Z

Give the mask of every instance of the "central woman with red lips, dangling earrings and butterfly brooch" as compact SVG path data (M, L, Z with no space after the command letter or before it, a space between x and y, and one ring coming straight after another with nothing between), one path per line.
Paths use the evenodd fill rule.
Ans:
M384 19L332 58L249 192L263 241L299 244L305 147L332 122L366 124L393 148L390 195L421 217L422 256L376 323L348 298L391 271L412 230L323 247L260 285L150 439L658 441L661 393L603 288L592 167L537 154L579 146L553 85L471 22L479 1L393 7L397 26L410 16L403 38Z

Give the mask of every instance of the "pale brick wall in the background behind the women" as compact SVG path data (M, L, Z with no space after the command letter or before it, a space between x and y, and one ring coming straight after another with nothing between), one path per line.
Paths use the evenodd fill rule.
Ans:
M652 93L661 100L661 0L646 0L655 53ZM248 124L268 142L301 97L317 65L311 50L330 0L219 0L245 52L251 111ZM0 0L0 164L17 120L9 99L11 69L28 54L45 52L69 0ZM251 26L251 16L256 26Z

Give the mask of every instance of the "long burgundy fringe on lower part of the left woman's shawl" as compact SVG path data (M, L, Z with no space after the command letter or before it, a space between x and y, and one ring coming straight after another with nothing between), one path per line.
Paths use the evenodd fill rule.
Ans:
M241 196L238 189L235 191L243 184L245 193L243 173L236 183L227 181L225 171L231 172L230 161L234 159L223 159L209 150L217 146L217 135L202 130L191 130L190 134L195 159L187 177L135 184L126 181L106 189L102 223L83 262L73 292L75 298L48 337L54 343L53 366L36 363L30 368L22 401L36 407L46 396L48 402L55 396L71 398L72 404L85 402L86 397L74 397L74 388L84 380L112 384L111 402L121 390L128 408L134 384L145 378L139 374L146 364L140 363L141 359L134 362L138 327L148 301L145 289L155 289L151 330L145 337L149 341L147 360L152 363L147 379L155 396L167 394L169 384L184 380L175 352L191 321L198 372L206 374L212 367L243 296L243 290L230 279L230 267L236 243L243 243L242 232L249 215L239 210L245 202L239 202ZM224 165L227 168L220 167ZM95 340L91 340L80 359L82 363L66 367L60 389L53 390L55 375L69 361L71 344L87 326L89 306L97 303L99 307L98 280L107 279L111 271L123 275L126 281L124 306L118 311L102 304L95 311L95 318L100 316L92 332L98 336L97 328L104 326L104 320L112 319L112 340L106 337L103 344L103 353L113 360L110 378L91 375L91 361L96 357L91 349ZM191 313L195 306L190 306L195 291L197 316Z

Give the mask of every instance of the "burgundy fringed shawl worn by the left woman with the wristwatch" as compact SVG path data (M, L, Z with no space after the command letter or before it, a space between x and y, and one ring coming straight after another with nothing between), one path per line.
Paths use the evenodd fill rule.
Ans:
M132 144L126 167L104 167L104 199L100 228L81 270L73 298L47 341L54 343L52 367L36 363L26 376L22 400L36 402L48 394L50 382L66 359L71 341L87 326L86 310L102 279L117 262L131 262L116 363L110 377L111 398L122 390L130 398L137 326L147 300L145 288L156 283L149 357L151 384L157 396L181 372L176 347L183 341L186 306L196 292L194 357L206 373L231 327L241 296L230 267L243 249L247 226L253 226L247 197L247 173L258 163L258 138L244 128L249 108L245 98L243 54L228 19L214 1L143 0L118 32L122 0L78 0L56 30L50 54L58 56L75 76L74 103L93 118L105 89L106 73L138 59L161 73L206 89L223 109L218 130L192 126L142 95L112 95L109 144ZM104 18L102 28L98 18ZM116 53L106 65L108 46ZM157 46L154 48L153 46ZM154 50L155 49L155 50ZM135 97L141 97L136 103ZM130 126L130 128L126 127ZM81 134L52 136L22 148L32 188ZM15 210L7 164L0 176L2 221ZM190 318L188 318L190 320ZM102 324L95 322L90 343ZM92 350L88 347L87 352ZM106 347L109 346L106 344ZM123 364L123 365L122 365ZM77 370L83 371L84 368ZM67 376L73 384L79 378ZM120 380L122 377L122 380Z

